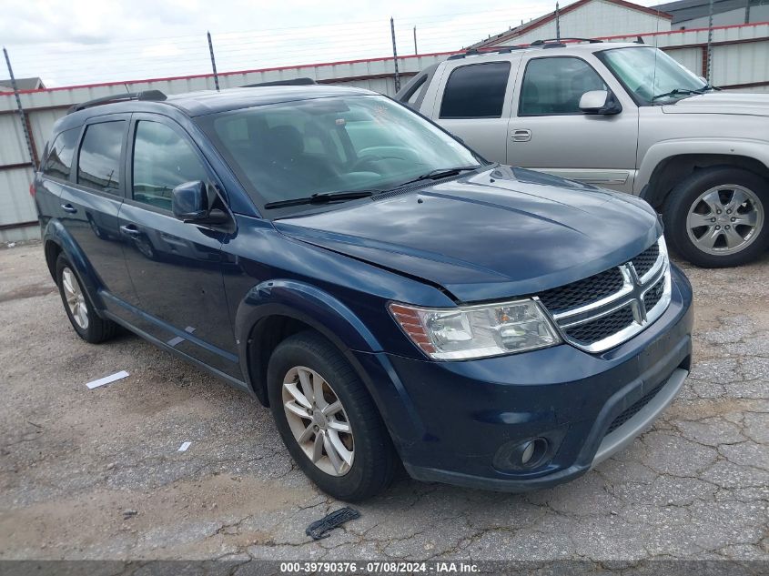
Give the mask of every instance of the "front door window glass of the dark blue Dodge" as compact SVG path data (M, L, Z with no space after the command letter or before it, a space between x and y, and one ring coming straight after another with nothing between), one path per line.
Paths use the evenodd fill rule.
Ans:
M208 179L197 153L176 130L147 120L137 123L133 166L134 200L165 210L179 184Z

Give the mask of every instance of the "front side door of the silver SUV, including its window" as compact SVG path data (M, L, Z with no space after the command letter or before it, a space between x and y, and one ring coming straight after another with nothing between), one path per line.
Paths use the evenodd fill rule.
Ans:
M521 76L515 88L507 163L632 192L638 108L622 89L607 86L578 56L529 57ZM579 104L585 92L608 89L619 99L622 112L582 113Z

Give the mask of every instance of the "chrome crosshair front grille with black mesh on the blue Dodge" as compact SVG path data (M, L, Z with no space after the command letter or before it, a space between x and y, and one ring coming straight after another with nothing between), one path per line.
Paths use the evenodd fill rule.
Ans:
M666 307L658 304L670 301L669 274L661 239L630 262L551 288L539 298L563 339L588 352L601 352L632 338L662 315Z

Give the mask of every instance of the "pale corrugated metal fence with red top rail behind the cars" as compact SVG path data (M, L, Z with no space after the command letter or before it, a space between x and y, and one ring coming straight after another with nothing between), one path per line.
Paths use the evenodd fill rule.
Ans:
M647 44L657 45L714 86L727 89L769 91L769 23L676 30L641 34ZM612 36L610 41L635 40L637 35ZM98 96L147 89L166 94L222 89L310 77L319 83L359 86L393 96L396 92L396 64L400 82L450 56L451 52L419 56L392 56L333 62L309 66L279 66L258 70L200 74L66 86L19 93L25 110L32 157L25 142L24 125L18 114L15 95L0 93L0 242L39 236L35 204L28 190L34 176L33 163L43 153L51 128L73 104ZM710 55L710 56L709 56Z

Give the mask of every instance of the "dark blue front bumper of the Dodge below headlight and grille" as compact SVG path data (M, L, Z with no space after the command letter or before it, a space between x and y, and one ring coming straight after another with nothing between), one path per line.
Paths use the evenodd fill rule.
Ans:
M602 354L569 345L462 362L356 353L406 470L525 491L572 480L622 450L688 374L692 290L678 268L672 279L663 316ZM529 469L506 460L531 438L547 439L546 460Z

